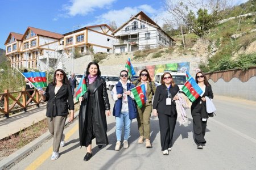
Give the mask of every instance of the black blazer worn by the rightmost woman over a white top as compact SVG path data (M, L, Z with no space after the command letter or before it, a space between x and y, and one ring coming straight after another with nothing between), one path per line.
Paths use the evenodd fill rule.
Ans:
M213 99L212 86L206 86L205 92L202 97L208 96L210 99ZM208 113L206 111L206 102L202 101L200 104L201 97L198 97L191 105L191 114L195 116L197 113L200 113L201 118L208 118Z

